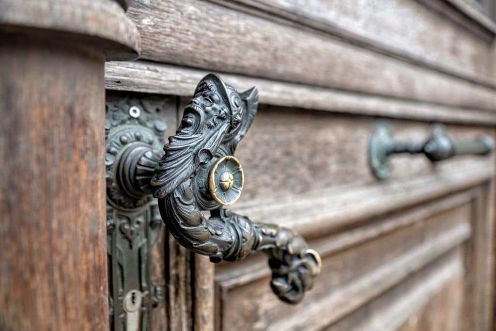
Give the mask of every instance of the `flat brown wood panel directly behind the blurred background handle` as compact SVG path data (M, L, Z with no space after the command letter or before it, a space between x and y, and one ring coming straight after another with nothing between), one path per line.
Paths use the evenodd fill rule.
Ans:
M245 188L238 204L342 186L363 189L364 185L377 184L368 164L369 138L376 124L370 117L260 106L236 153L245 170ZM425 141L432 130L426 123L390 121L390 125L395 138L403 141ZM453 139L460 140L471 140L482 133L494 134L489 128L457 125L447 125L445 130ZM442 177L445 170L460 170L472 161L494 168L495 159L494 155L464 156L433 167L424 155L395 155L387 183L430 173Z

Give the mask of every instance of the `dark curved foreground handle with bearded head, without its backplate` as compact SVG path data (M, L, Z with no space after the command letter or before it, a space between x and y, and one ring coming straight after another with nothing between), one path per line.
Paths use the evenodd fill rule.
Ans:
M171 234L212 262L265 252L272 290L281 300L298 303L320 272L319 255L294 231L253 223L223 208L234 203L243 189L243 168L233 154L257 105L255 87L240 94L219 76L208 74L198 83L176 134L164 146L165 154L152 145L135 144L121 155L117 178L128 196L153 192ZM204 210L210 211L210 217Z

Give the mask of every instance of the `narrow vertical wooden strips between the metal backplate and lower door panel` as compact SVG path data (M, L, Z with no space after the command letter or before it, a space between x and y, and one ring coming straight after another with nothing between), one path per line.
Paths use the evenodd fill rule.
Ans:
M188 101L177 97L174 114L163 114L166 135L176 132ZM186 250L167 229L152 248L152 279L165 289L164 302L152 311L153 330L214 330L214 265Z

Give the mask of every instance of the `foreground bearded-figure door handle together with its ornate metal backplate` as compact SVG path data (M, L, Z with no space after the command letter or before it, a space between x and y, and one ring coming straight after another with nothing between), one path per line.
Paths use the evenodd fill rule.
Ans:
M153 243L160 215L180 244L209 256L212 262L237 261L256 251L265 252L272 269L272 290L281 300L298 303L320 272L319 255L294 231L253 223L222 207L234 203L243 189L243 168L233 154L256 114L257 89L239 94L219 76L205 76L185 108L176 135L165 145L165 154L159 148L166 124L153 106L148 109L144 104L148 105L107 106L109 282L113 282L109 288L114 328L119 323L134 325L139 318L136 310L129 310L135 305L119 299L123 293L124 300L142 296L140 302L148 305L147 310L160 300L161 289L150 284L146 272L138 272L149 270L150 259L143 259L134 247ZM210 210L210 217L203 210ZM150 293L151 300L146 297ZM125 321L119 317L123 313Z

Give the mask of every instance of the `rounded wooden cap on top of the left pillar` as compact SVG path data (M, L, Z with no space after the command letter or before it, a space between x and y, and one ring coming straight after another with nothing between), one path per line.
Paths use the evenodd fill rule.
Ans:
M133 60L140 52L139 33L114 0L2 0L0 30L92 47L108 60Z

